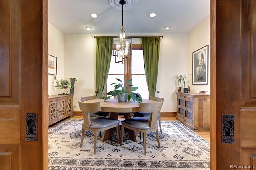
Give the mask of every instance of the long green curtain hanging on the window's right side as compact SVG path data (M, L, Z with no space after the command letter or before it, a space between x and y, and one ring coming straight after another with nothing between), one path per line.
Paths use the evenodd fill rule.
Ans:
M155 96L160 37L142 37L143 58L149 96Z

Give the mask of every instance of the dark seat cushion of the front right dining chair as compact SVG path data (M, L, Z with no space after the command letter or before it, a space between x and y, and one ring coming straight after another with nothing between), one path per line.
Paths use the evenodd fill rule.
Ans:
M126 125L132 128L137 128L140 130L149 130L149 119L146 117L134 117L132 119L126 119L121 122L122 125ZM158 123L156 123L156 127L158 127Z

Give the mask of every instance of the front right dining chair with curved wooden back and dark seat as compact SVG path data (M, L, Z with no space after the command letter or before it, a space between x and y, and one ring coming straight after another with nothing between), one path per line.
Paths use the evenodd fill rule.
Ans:
M163 101L156 103L140 102L139 112L150 113L150 119L146 117L134 117L121 122L121 144L123 144L124 128L134 130L143 134L143 150L146 155L146 133L156 131L158 147L161 148L158 136L157 115L162 108Z

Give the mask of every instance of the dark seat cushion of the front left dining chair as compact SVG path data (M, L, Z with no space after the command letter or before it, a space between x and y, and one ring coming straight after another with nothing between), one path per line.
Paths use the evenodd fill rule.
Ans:
M99 128L111 127L113 125L119 125L119 120L104 117L104 116L97 116L97 117L92 117L90 128L99 129ZM84 126L84 123L83 123L83 126Z

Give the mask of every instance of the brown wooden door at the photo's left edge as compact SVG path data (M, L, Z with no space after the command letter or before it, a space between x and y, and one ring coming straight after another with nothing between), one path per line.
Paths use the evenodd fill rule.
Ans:
M46 170L48 1L1 0L0 30L0 167ZM37 115L34 141L26 140L26 113Z

